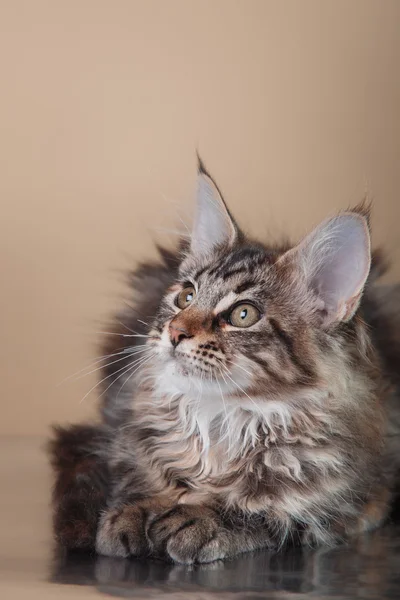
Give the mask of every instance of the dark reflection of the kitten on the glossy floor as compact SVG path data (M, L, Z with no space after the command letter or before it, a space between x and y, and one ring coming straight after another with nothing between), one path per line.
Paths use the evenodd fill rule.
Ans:
M346 546L259 551L194 566L57 548L50 580L122 598L398 598L400 524L389 523Z

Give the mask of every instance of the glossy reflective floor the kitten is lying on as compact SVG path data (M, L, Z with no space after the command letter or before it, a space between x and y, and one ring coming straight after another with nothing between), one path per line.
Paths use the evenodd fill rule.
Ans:
M256 600L399 598L400 526L331 550L259 552L187 568L155 561L65 556L50 530L43 443L0 439L0 598Z

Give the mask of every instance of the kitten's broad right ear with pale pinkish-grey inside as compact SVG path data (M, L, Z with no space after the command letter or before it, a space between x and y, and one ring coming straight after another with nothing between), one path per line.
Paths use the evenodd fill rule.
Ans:
M358 308L371 265L367 218L348 212L325 221L287 252L287 259L295 261L315 294L322 324L348 321Z

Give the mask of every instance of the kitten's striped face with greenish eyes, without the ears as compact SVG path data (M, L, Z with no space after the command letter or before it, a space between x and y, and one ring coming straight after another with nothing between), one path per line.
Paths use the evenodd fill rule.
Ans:
M314 381L315 332L295 302L300 290L293 273L285 273L278 258L248 244L217 252L211 261L192 255L184 261L151 342L158 368L178 389L191 379L216 391L221 385L271 394Z

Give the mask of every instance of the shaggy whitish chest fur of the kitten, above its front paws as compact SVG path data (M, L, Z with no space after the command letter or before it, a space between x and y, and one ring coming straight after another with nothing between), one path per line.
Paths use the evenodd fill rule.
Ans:
M157 431L152 460L169 476L190 478L194 487L212 485L227 470L250 460L256 448L266 465L293 475L301 470L290 452L290 445L299 441L292 433L296 414L282 401L229 398L227 403L213 396L149 393L137 399L135 418ZM313 445L312 440L305 443ZM287 449L277 453L277 444Z

